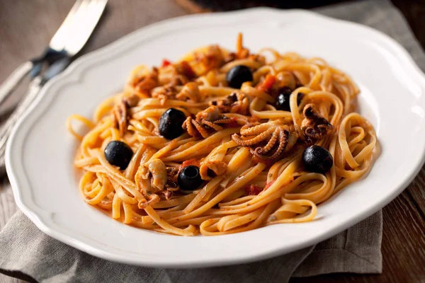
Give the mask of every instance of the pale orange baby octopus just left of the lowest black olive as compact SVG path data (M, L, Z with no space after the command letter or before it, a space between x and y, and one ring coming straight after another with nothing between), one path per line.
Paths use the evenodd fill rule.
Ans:
M158 194L163 194L168 200L172 193L178 190L177 186L169 184L167 168L158 158L140 165L135 175L135 182L137 190L142 192L147 199L147 201L139 202L140 209L159 202Z

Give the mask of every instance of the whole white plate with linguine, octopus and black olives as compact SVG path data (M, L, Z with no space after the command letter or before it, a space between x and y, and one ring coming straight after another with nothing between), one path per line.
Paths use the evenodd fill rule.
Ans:
M268 8L186 16L47 83L8 141L7 171L42 231L92 255L260 260L333 236L409 185L424 163L424 90L409 54L362 25Z

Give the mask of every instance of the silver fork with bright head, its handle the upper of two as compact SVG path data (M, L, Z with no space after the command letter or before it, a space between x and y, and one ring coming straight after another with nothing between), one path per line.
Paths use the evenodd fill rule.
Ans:
M108 0L77 0L60 28L50 40L49 46L40 57L21 64L0 85L0 104L13 93L18 83L30 73L37 76L44 64L54 63L63 57L72 57L89 39Z

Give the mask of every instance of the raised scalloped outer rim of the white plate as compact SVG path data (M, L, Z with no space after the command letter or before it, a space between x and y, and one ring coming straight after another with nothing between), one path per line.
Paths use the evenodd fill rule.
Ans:
M356 28L363 29L365 33L375 33L375 35L378 37L376 40L380 43L385 43L387 50L390 50L392 54L397 54L399 56L399 63L402 64L404 69L409 72L409 74L414 75L414 81L421 85L421 88L425 88L425 76L417 67L416 63L413 61L412 57L407 53L404 48L399 45L398 42L393 40L391 37L380 33L378 30L374 30L373 28L370 28L365 25L361 25L359 23L352 23L348 21L342 21L335 18L329 18L327 16L323 16L317 13L313 13L311 11L303 11L303 10L287 10L287 11L281 11L278 9L273 8L249 8L242 11L234 11L234 12L222 12L222 13L214 13L214 14L204 14L204 15L188 15L188 16L181 16L178 18L171 18L169 20L161 21L159 23L154 23L152 25L148 25L144 28L140 28L139 30L135 30L134 32L125 35L124 37L121 37L119 40L111 43L110 45L106 45L105 47L100 48L99 50L96 50L94 52L91 52L89 54L84 54L75 62L73 62L67 70L65 70L62 74L58 75L51 81L49 81L46 86L42 89L42 93L40 93L40 96L38 97L36 103L27 110L26 114L21 117L21 119L18 122L18 125L13 129L13 133L11 134L11 138L8 140L8 145L6 149L6 170L8 173L9 180L11 182L11 186L13 188L13 195L15 197L16 203L18 204L18 207L23 211L28 218L35 223L36 226L43 232L47 233L47 235L52 236L52 238L56 238L59 241L62 241L63 243L67 243L69 246L73 246L74 248L78 248L79 250L83 250L86 253L89 253L91 255L95 255L99 258L104 258L106 260L113 260L117 262L124 262L132 265L144 265L144 266L152 266L152 267L209 267L209 266L217 266L217 265L231 265L241 262L251 262L254 260L261 260L265 258L271 258L276 255L282 255L285 253L290 253L294 250L298 250L300 248L305 248L307 246L311 246L314 243L318 243L319 241L323 241L326 238L329 238L330 236L334 236L336 233L339 233L340 231L343 231L344 229L347 229L349 226L352 226L353 224L356 224L358 221L361 221L365 219L367 216L370 216L374 212L378 211L382 207L385 206L388 202L393 200L399 193L404 190L409 183L412 182L414 177L417 173L419 173L421 166L424 164L425 161L425 147L422 148L421 151L421 160L416 166L416 170L412 171L407 178L404 178L402 183L398 186L398 190L394 192L392 195L388 195L385 200L382 202L376 204L373 209L368 209L363 211L361 214L358 214L356 217L352 217L351 219L348 219L344 224L341 224L339 226L333 227L329 231L325 231L323 233L318 233L316 236L311 236L307 241L302 241L300 243L297 243L297 245L293 245L291 247L276 247L272 252L268 253L261 253L256 252L252 253L252 255L249 258L240 258L237 255L234 255L232 257L228 256L226 258L221 258L220 260L192 260L187 262L177 262L176 260L169 260L166 262L159 262L159 261L152 261L146 258L140 258L140 256L134 256L129 257L127 254L123 253L112 253L111 251L107 250L101 250L100 248L96 248L94 246L91 246L90 243L85 243L84 241L78 239L79 237L77 235L70 236L66 232L63 231L62 228L57 226L51 219L51 215L43 212L42 209L36 206L36 204L33 202L33 200L25 199L26 197L23 196L23 192L25 190L22 190L23 187L30 187L28 176L26 175L24 169L17 169L16 168L16 161L18 157L18 153L13 152L13 150L16 151L22 151L21 149L16 149L16 139L21 138L21 141L18 139L18 145L23 145L24 140L26 138L26 135L28 134L28 128L29 125L29 118L32 116L35 116L37 118L40 118L42 115L42 110L47 108L52 101L55 99L54 94L50 93L50 96L45 96L46 93L48 93L48 90L54 86L61 86L60 83L62 81L63 87L66 83L70 83L72 81L79 81L81 79L81 73L84 73L84 70L88 67L90 67L93 62L96 62L98 58L101 57L108 57L107 52L113 51L117 52L117 50L120 50L120 48L125 47L125 45L130 45L132 40L135 40L135 38L139 35L142 35L143 33L155 33L156 29L166 28L168 26L173 25L174 23L181 23L182 21L196 21L201 19L205 19L205 17L208 18L221 18L221 17L227 17L230 15L239 16L241 19L237 19L237 21L241 21L244 16L248 16L251 13L269 13L271 16L281 16L285 13L300 13L303 14L305 17L308 17L311 19L311 21L316 21L317 23L326 23L326 24L342 24L342 25L351 25ZM272 15L273 14L273 15ZM105 59L105 58L103 58ZM78 73L80 71L80 73ZM24 132L21 133L19 136L19 133L21 129L23 129L23 126L26 125L26 129L24 129ZM26 132L25 132L26 131ZM22 131L21 131L22 132ZM25 135L24 137L22 137ZM21 158L23 158L21 154ZM15 163L15 165L13 164ZM29 189L30 190L30 189ZM27 190L28 191L28 190ZM31 191L31 190L30 190ZM29 201L29 202L28 202Z

